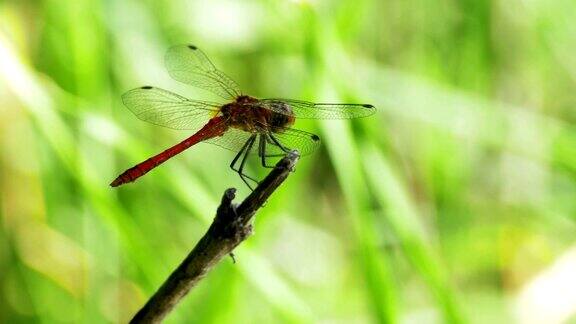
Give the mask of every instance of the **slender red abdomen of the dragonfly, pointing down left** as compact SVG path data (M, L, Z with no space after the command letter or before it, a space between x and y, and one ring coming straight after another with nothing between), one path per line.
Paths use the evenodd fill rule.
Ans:
M204 127L202 127L202 129L197 131L194 135L166 149L165 151L149 158L148 160L141 162L131 167L130 169L124 171L121 175L119 175L116 179L114 179L114 181L112 181L110 186L118 187L122 184L133 182L136 179L148 173L148 171L166 162L174 155L181 153L182 151L191 147L192 145L222 135L228 128L227 123L223 121L224 119L221 116L210 119L210 121L208 121L208 123L204 125Z

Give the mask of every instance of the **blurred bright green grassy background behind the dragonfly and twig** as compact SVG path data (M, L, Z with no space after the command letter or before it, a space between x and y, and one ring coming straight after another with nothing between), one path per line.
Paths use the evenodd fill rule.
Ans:
M0 1L0 322L126 322L233 153L122 106L193 43L246 93L371 103L303 158L168 323L576 322L573 0ZM263 175L257 161L252 174Z

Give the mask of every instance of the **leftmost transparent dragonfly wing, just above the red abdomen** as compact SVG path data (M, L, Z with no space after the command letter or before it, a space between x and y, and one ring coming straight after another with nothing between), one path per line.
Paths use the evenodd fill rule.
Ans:
M200 129L215 116L220 104L190 100L160 88L145 86L122 95L124 105L136 117L173 129Z

